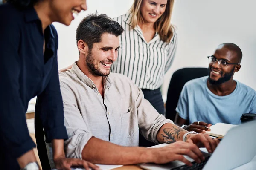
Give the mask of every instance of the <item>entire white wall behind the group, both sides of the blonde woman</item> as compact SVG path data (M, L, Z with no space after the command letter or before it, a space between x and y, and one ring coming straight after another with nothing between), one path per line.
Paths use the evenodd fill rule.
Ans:
M59 36L59 68L78 59L76 27L91 12L116 17L128 11L133 0L87 0L87 11L70 26L54 23ZM163 95L170 78L183 67L208 67L207 56L220 43L236 43L243 52L241 70L235 79L256 89L256 1L254 0L176 0L172 23L178 27L178 48L172 68L166 74Z

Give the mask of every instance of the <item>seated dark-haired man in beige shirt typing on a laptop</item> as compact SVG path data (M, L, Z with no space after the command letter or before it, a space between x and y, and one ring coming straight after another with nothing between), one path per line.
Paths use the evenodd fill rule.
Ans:
M143 98L141 89L128 77L110 74L122 32L119 23L104 14L85 17L77 28L79 60L59 75L69 136L67 157L96 164L180 160L191 165L183 155L203 161L198 147L205 146L212 153L218 140L176 126ZM170 145L138 147L139 132L156 144Z

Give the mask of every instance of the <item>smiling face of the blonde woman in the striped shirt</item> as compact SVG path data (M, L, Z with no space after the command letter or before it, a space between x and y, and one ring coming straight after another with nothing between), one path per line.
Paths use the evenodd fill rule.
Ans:
M142 0L140 12L145 23L155 23L165 12L167 0Z

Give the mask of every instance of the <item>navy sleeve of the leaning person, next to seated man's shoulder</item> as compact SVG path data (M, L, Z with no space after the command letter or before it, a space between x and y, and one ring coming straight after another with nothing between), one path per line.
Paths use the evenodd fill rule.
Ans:
M49 74L51 74L49 83L44 91L38 95L35 108L35 114L40 114L47 143L51 142L52 139L67 139L57 57L54 58L52 71Z

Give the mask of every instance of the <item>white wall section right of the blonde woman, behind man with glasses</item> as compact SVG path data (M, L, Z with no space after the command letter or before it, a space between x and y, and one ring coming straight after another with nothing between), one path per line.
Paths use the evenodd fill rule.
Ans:
M172 23L178 27L179 44L163 94L175 70L208 67L207 56L225 42L237 44L243 52L241 69L234 78L256 89L255 6L255 0L176 0Z

